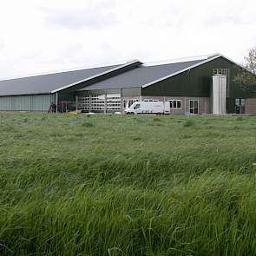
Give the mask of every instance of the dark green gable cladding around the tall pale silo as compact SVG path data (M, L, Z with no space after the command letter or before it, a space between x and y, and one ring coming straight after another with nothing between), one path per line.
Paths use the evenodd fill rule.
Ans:
M255 97L256 86L252 86L248 90L243 90L239 84L233 82L233 78L238 72L237 68L233 62L220 57L148 86L142 89L142 95L210 97L213 69L230 69L229 97Z

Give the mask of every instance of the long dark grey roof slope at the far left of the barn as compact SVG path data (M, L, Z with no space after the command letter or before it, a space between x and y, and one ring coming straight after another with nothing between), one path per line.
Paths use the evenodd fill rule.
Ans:
M120 65L94 69L66 71L49 75L36 75L0 81L0 95L35 95L47 94L74 82L79 82L93 75L98 75Z

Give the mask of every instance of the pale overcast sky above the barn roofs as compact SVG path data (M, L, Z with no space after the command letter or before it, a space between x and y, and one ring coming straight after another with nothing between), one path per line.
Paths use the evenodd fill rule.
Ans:
M0 78L256 45L255 0L8 0L0 9Z

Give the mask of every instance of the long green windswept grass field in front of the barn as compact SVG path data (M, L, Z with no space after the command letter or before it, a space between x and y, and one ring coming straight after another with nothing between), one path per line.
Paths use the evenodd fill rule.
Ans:
M255 255L256 116L0 113L1 255Z

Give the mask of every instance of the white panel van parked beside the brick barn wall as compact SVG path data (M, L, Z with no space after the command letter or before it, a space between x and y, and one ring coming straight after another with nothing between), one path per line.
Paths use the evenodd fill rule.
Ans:
M169 102L135 102L124 110L125 114L170 114Z

